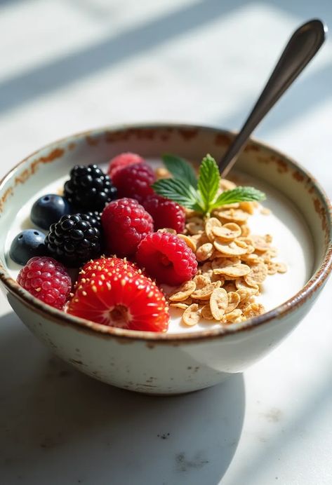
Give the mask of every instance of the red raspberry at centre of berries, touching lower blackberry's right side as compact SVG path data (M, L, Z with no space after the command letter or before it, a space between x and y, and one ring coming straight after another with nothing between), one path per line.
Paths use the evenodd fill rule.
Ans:
M131 256L142 238L153 231L153 221L137 200L122 198L109 203L102 211L102 229L110 254Z

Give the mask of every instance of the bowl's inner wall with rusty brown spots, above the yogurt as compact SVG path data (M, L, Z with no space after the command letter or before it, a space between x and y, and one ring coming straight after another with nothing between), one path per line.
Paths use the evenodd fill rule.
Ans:
M105 132L95 130L57 142L30 156L0 189L0 257L4 264L6 228L15 214L46 184L68 174L73 165L106 163L122 151L134 151L146 157L176 153L199 162L206 153L217 160L223 155L232 135L221 130L194 127L138 127ZM321 194L302 170L272 149L249 144L238 160L237 168L259 177L291 200L307 222L314 240L314 270L321 263L328 246L331 220Z

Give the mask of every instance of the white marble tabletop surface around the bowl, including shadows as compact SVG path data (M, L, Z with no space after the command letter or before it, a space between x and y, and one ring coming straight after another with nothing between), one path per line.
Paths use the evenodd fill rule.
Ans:
M0 176L79 130L131 121L239 128L291 30L331 0L0 0ZM255 135L332 196L332 41ZM332 483L332 281L242 375L154 398L62 364L0 296L0 483Z

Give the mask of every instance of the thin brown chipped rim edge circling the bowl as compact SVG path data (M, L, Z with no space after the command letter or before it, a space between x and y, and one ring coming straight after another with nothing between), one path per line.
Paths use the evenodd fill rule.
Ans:
M204 125L192 125L188 123L126 123L121 125L111 125L111 126L104 126L100 128L95 128L93 130L86 130L84 132L79 132L74 135L70 135L67 137L63 137L61 139L56 140L55 142L51 142L46 144L45 146L41 147L31 153L29 156L25 157L19 163L17 163L9 172L2 177L0 181L0 187L6 182L8 178L11 178L13 174L18 170L18 168L25 163L29 158L36 155L40 151L45 149L51 149L56 145L64 142L71 142L74 139L82 138L86 136L91 136L94 134L100 134L101 132L107 131L118 131L118 130L130 130L131 128L136 129L152 129L152 128L178 128L178 129L197 129L197 130L205 130L205 131L212 131L216 133L223 133L223 135L234 137L237 135L236 131L231 130L223 130L223 128L216 128L211 126L204 126ZM319 196L324 201L324 205L327 210L326 217L329 219L329 226L331 228L332 225L332 206L328 196L326 195L324 189L320 186L316 179L308 172L305 168L302 167L296 160L289 157L282 151L274 149L273 146L261 142L259 139L250 138L250 142L256 144L267 151L271 151L273 154L277 156L281 156L285 158L288 162L294 165L300 172L302 172L314 185L314 188L319 193ZM286 300L281 305L277 306L276 308L272 308L272 310L268 311L267 313L263 313L263 315L258 315L257 317L252 317L245 322L241 322L238 324L231 324L227 327L220 327L220 329L209 329L209 330L198 330L197 332L181 332L177 334L167 334L167 333L160 333L160 332L145 332L142 330L127 330L127 329L119 329L116 327L108 327L106 325L101 325L95 322L91 322L90 320L85 320L84 318L74 317L69 315L68 313L63 312L62 310L57 310L51 306L46 305L42 301L39 301L34 296L29 294L25 289L18 285L11 275L8 273L6 268L2 266L0 263L0 281L4 284L4 286L8 289L8 291L15 295L22 303L25 304L28 308L36 311L43 317L52 320L60 325L70 325L73 328L77 328L79 330L84 330L85 332L89 332L95 336L102 336L103 338L115 338L115 339L128 339L129 341L147 341L153 343L194 343L197 341L205 341L207 339L216 339L219 337L225 337L227 335L232 334L240 334L246 330L254 329L260 325L263 325L267 322L271 322L275 319L280 319L284 315L293 312L298 308L298 306L302 305L310 299L314 295L314 293L321 287L321 285L326 282L328 275L330 275L332 271L332 235L330 230L330 235L328 239L328 247L326 250L326 254L324 256L323 261L317 268L317 271L314 272L310 280L300 289L299 292L294 294L290 299Z

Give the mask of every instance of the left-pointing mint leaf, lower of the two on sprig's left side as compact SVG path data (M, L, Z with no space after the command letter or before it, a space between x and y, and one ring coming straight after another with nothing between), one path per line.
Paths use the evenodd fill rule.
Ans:
M197 191L188 182L180 179L160 179L152 184L152 189L159 196L171 199L188 209L202 212Z

